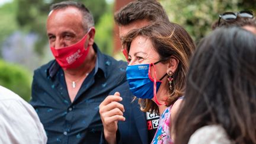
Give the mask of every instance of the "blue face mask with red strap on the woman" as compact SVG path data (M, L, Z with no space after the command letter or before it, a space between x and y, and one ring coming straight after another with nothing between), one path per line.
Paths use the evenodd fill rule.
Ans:
M161 79L164 78L164 76L166 76L167 74L165 74L160 79L160 81L156 81L156 63L127 66L126 76L129 83L130 91L133 95L135 95L137 98L143 99L155 98L156 104L159 104L158 100L156 99L156 92L158 91L162 83ZM151 77L151 66L153 66L154 68L154 78Z

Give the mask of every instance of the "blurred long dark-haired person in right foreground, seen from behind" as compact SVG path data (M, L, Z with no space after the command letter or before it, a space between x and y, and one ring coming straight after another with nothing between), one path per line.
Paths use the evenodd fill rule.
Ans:
M197 47L175 144L256 143L256 37L218 28Z

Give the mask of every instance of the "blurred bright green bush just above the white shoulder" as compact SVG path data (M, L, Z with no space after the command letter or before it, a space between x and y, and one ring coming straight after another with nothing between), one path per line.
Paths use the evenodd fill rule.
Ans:
M21 66L0 60L0 85L11 89L25 101L30 100L31 74Z

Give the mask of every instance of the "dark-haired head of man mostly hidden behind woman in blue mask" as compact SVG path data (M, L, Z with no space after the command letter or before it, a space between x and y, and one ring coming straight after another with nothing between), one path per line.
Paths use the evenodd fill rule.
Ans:
M130 2L114 15L119 25L119 37L122 39L130 30L142 28L156 21L169 21L162 5L156 0L137 0ZM127 59L127 52L123 52Z

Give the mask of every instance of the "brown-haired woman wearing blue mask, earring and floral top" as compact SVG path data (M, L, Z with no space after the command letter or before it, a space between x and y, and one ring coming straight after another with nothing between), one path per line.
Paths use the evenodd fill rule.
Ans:
M129 54L130 91L139 98L142 111L160 115L152 143L172 143L169 126L184 95L193 40L180 25L161 22L130 31L123 47Z

